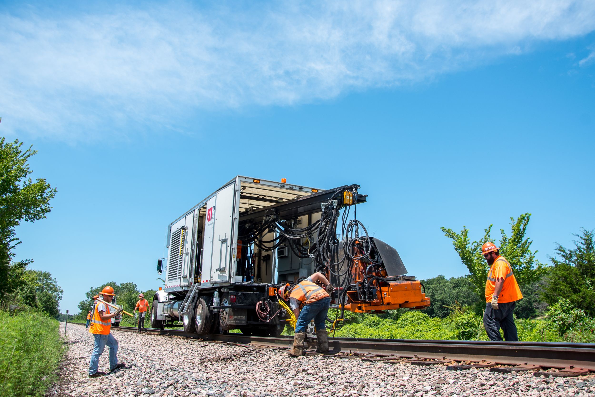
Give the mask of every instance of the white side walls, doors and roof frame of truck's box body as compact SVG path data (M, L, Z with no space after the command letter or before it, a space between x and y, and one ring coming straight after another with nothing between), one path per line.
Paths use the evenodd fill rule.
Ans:
M165 291L189 289L198 280L193 267L196 263L201 269L201 289L242 282L242 276L236 276L240 211L270 205L250 197L271 196L271 199L283 202L319 191L267 180L255 181L242 176L232 179L170 225ZM245 196L240 199L242 194ZM199 236L199 229L202 236ZM196 249L198 239L202 242L201 249ZM277 250L270 254L273 264L270 282L277 282Z

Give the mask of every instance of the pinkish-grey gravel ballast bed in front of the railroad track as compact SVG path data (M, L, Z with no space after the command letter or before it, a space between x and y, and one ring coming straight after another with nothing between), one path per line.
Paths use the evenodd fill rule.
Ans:
M64 332L64 323L61 323ZM595 396L595 377L535 377L488 368L450 371L341 358L287 357L285 350L208 343L112 330L126 368L89 378L93 336L68 325L70 351L62 382L50 392L70 396ZM99 370L108 371L108 348Z

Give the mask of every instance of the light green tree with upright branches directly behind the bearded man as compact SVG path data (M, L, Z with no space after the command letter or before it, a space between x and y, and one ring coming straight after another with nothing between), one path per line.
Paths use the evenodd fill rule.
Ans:
M531 251L531 239L525 236L530 218L531 214L528 212L521 214L516 220L511 217L510 237L506 235L504 229L500 229L500 254L511 264L516 281L521 286L521 292L522 286L537 282L546 271L546 267L535 259L537 251ZM490 224L487 229L484 229L483 237L476 241L469 239L469 230L465 226L460 233L441 227L444 236L452 239L455 251L468 268L475 293L480 299L484 299L489 270L486 260L481 255L481 246L488 241L494 241L491 237L492 226Z

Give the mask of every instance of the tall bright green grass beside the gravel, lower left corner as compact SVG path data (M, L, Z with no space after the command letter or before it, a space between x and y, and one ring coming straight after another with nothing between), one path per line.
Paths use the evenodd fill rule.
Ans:
M57 380L64 352L57 320L0 311L0 395L43 396Z

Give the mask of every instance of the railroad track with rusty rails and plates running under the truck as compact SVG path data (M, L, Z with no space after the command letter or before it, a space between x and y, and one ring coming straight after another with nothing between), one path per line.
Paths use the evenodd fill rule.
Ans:
M123 332L136 331L135 327L112 327ZM198 335L183 330L147 329L156 335L183 336L193 339L263 345L288 348L292 336L264 337L240 333L226 335ZM560 342L490 342L484 340L402 340L329 338L335 357L362 358L370 361L394 362L405 360L418 365L449 365L450 369L492 367L491 370L536 371L554 368L553 376L578 376L595 372L595 343ZM551 371L551 370L550 370Z

